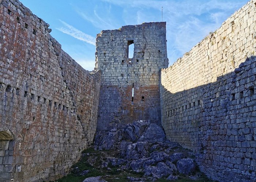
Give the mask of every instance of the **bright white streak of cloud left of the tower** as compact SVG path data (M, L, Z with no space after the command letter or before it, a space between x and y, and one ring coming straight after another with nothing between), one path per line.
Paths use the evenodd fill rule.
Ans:
M73 27L72 25L69 25L68 23L66 23L65 21L60 20L60 22L65 25L65 27L61 27L61 28L56 28L57 30L66 33L72 37L75 37L78 40L82 40L84 42L87 42L89 44L92 44L95 46L95 37L88 35L78 29L76 29L75 27Z

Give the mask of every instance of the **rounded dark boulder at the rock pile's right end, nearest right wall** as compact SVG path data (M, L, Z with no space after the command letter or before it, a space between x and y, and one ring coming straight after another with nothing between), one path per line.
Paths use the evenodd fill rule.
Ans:
M180 159L177 162L177 169L181 174L190 174L195 170L195 168L196 165L193 159Z

